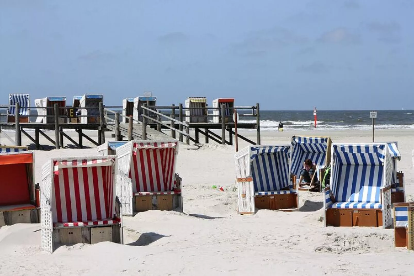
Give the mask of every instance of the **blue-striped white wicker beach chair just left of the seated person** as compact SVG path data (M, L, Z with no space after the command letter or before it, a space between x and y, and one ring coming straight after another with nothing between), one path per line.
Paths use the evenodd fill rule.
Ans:
M298 193L290 181L290 149L289 144L256 145L236 153L240 213L251 213L255 208L298 209Z

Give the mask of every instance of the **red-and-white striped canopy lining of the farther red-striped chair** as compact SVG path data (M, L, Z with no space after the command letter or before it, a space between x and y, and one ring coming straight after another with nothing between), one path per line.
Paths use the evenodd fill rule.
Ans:
M172 191L177 154L178 142L134 143L129 172L132 191Z

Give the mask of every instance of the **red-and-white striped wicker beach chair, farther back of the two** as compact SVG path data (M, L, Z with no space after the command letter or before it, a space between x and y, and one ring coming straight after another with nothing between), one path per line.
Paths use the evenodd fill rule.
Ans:
M130 141L118 147L116 154L123 172L117 195L124 215L148 210L183 211L181 178L176 174L178 141Z

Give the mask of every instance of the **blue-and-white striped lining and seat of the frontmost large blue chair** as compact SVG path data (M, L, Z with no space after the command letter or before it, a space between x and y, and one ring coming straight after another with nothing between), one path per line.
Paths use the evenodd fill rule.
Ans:
M360 204L360 208L381 207L384 149L385 144L332 145L331 190L337 202L335 208L357 208L348 203L378 203Z

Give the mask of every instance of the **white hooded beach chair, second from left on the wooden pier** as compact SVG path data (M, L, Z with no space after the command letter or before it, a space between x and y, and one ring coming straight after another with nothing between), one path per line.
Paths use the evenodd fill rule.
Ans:
M55 106L55 103L59 105L59 123L64 124L66 122L66 97L46 97L41 99L34 100L34 104L36 107L38 107L37 114L39 115L36 118L37 123L43 123L43 124L51 124L55 122L55 118L53 117L47 117L47 116L53 116L55 115L55 110L53 109Z

